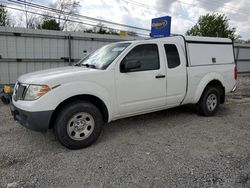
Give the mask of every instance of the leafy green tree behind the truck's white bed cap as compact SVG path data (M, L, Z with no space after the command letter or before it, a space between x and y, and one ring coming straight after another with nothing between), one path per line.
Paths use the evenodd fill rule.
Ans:
M206 14L200 16L198 22L186 32L186 35L230 38L233 41L240 38L236 29L230 28L229 19L224 14Z

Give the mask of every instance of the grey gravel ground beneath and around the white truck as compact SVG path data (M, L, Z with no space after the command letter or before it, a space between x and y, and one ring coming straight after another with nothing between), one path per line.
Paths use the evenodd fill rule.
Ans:
M178 107L127 118L74 151L0 104L0 187L250 187L249 97L241 76L215 117Z

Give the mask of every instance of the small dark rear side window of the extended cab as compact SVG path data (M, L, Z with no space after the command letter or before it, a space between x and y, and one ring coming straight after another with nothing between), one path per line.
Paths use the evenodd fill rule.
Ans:
M167 61L168 61L168 68L172 69L178 67L180 62L180 57L178 50L174 44L164 44Z

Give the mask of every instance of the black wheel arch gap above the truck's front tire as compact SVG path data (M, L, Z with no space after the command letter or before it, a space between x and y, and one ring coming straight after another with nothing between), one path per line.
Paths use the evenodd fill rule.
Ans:
M62 101L54 110L51 119L50 119L50 124L49 124L49 129L53 128L54 124L55 124L55 120L57 117L58 112L67 104L73 102L73 101L89 101L91 103L93 103L102 113L103 116L103 120L104 122L108 122L109 121L109 112L108 112L108 108L106 106L106 104L103 102L103 100L101 100L100 98L94 96L94 95L90 95L90 94L82 94L82 95L75 95L75 96L71 96L67 99L65 99L64 101Z

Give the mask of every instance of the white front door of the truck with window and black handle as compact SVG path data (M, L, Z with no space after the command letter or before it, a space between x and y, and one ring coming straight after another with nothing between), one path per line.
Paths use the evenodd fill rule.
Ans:
M116 66L116 90L122 116L166 106L166 65L156 43L134 46Z

